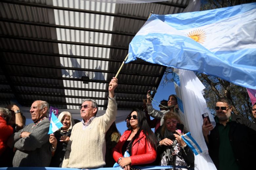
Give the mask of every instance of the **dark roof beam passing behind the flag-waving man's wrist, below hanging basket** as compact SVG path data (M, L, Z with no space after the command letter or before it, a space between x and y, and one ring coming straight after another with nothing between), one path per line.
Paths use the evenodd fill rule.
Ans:
M0 82L0 85L10 85L8 82ZM92 89L92 88L78 88L78 87L61 87L61 86L51 86L51 85L40 85L40 84L22 84L22 83L12 83L13 86L23 86L23 87L37 87L37 88L49 88L49 89L64 89L64 90L79 90L79 91L92 91L92 92L106 92L106 89ZM147 92L129 92L129 91L120 91L115 90L115 93L124 93L124 94L146 94Z

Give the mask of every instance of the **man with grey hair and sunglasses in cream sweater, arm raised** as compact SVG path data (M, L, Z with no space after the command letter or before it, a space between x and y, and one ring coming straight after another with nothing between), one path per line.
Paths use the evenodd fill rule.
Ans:
M106 113L96 117L97 103L93 99L84 99L80 114L82 122L75 124L67 145L62 167L100 168L105 165L105 133L116 120L117 103L114 90L117 78L109 83L109 99Z

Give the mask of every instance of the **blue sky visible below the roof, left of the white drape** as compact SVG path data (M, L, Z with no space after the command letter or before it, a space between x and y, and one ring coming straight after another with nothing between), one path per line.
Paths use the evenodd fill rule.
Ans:
M168 78L171 78L171 74L168 75ZM163 77L164 78L164 77ZM157 89L157 93L155 94L154 96L154 100L160 102L161 100L165 99L165 100L168 100L168 97L169 95L171 94L176 94L175 92L175 87L174 87L174 83L168 83L166 84L165 86L162 85L162 82L163 82L163 78L161 80L161 83ZM151 89L149 89L151 90ZM156 103L156 102L154 102ZM158 104L157 104L158 105ZM117 106L118 107L118 106ZM159 110L158 107L156 107L154 104L153 104L153 108L154 109L157 109ZM119 132L121 134L123 134L123 132L127 129L126 127L126 122L123 121L123 122L120 122L120 123L117 123L117 129L119 130Z

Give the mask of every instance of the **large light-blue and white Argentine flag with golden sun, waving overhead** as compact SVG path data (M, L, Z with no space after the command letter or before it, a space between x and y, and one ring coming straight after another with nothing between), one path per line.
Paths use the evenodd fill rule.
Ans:
M256 3L152 15L129 45L143 59L256 89Z

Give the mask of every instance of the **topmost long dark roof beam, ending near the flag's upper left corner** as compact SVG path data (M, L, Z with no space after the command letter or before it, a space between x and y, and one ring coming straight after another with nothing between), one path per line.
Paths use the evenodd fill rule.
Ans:
M73 12L81 12L81 13L89 13L89 14L96 14L96 15L105 15L105 16L147 21L147 18L145 18L145 17L124 15L124 14L115 14L115 13L110 13L110 12L101 12L101 11L93 11L93 10L86 10L86 9L74 9L74 8L58 7L58 6L45 5L45 4L35 4L35 3L30 3L30 2L21 2L21 1L0 0L0 2L8 3L8 4L15 4L15 5L37 7L37 8L66 10L66 11L73 11Z

